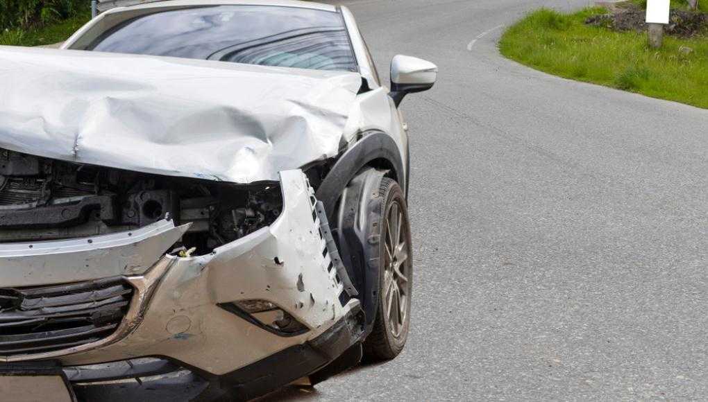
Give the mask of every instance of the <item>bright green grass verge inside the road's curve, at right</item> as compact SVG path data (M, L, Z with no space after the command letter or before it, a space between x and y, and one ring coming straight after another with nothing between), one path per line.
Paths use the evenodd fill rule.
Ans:
M568 15L542 8L510 27L499 48L510 59L556 76L708 109L707 37L665 37L661 49L650 49L645 33L584 23L603 12L586 8ZM682 46L693 52L680 52Z

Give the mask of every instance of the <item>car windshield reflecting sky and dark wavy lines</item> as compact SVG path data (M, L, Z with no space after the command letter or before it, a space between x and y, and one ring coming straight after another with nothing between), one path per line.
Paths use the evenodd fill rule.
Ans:
M357 71L339 13L280 6L159 11L104 32L87 50Z

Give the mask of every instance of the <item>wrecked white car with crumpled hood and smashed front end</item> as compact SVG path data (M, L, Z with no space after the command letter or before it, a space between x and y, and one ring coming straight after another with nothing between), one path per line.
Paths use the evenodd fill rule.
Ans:
M398 106L436 76L397 56L389 90L347 8L299 1L113 8L62 49L0 47L2 389L246 400L395 357Z

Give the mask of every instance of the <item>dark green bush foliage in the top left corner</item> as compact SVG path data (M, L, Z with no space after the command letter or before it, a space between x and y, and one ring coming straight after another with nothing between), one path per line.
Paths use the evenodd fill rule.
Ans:
M56 23L89 4L89 0L0 0L0 31Z

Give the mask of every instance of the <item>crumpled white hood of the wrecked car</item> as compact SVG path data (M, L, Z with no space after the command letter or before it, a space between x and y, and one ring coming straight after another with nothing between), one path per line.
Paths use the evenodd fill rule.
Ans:
M0 47L0 148L249 183L338 153L358 73Z

